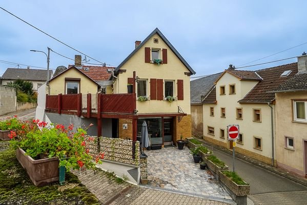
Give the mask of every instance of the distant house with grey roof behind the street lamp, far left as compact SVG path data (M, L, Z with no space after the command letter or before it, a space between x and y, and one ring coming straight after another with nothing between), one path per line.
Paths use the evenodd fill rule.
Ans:
M53 76L53 71L49 70L49 79ZM47 80L47 70L27 69L22 68L8 68L2 75L2 85L12 83L17 79L31 81L33 83L33 90L37 91L39 86L42 86Z

